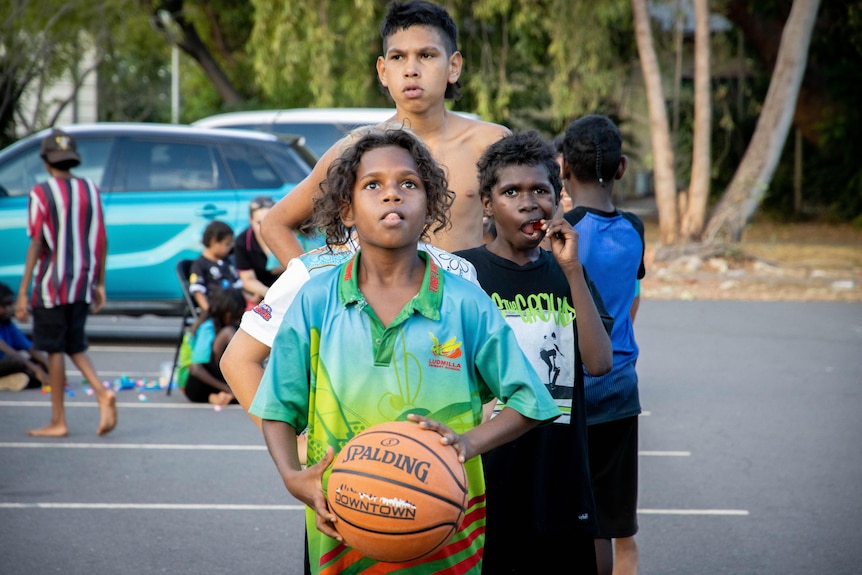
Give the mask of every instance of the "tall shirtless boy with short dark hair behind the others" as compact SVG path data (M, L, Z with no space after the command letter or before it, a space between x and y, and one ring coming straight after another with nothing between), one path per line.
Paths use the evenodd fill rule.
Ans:
M377 59L377 77L396 110L388 122L404 125L422 139L446 170L455 193L451 225L434 231L429 241L449 252L478 246L483 225L476 160L509 130L446 109L446 100L461 95L462 58L458 27L443 7L424 0L392 2L380 35L383 55ZM303 252L296 230L312 214L337 147L320 158L311 174L279 200L261 224L267 245L282 263Z

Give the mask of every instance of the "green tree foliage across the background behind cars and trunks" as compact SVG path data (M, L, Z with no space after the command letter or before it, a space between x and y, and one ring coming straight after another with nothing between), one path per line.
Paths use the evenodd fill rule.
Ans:
M548 136L582 114L605 113L624 131L630 157L649 161L629 0L439 1L459 26L464 56L463 97L453 108ZM749 9L759 21L781 22L791 3L764 0ZM243 97L232 109L389 105L375 73L386 2L13 0L0 3L0 146L14 139L21 95L76 69L84 47L103 60L100 119L169 121L171 49L151 23L155 10L167 5L182 10ZM723 3L712 6L719 11ZM666 86L673 75L672 39L655 28ZM715 68L724 64L727 72L736 31L714 35L712 47ZM724 191L745 153L769 86L771 66L751 48L746 45L741 113L740 85L727 74L713 81L713 196ZM226 111L201 67L185 54L180 61L181 121ZM828 99L817 141L805 143L803 199L813 212L848 220L862 214L860 81L862 0L822 2L806 82L823 88ZM675 150L680 185L690 170L692 114L685 83ZM793 147L785 148L764 209L791 215ZM636 171L630 168L632 181Z

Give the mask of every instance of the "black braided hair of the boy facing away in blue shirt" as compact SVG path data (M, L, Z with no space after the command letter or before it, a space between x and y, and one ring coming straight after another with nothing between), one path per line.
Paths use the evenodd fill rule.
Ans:
M619 128L607 116L590 114L566 128L563 159L579 182L612 182L623 155Z

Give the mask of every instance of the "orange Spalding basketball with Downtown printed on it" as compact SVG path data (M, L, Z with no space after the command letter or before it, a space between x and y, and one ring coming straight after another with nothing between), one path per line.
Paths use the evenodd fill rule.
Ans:
M347 545L401 563L434 553L458 531L467 473L436 431L411 421L382 423L338 453L326 497Z

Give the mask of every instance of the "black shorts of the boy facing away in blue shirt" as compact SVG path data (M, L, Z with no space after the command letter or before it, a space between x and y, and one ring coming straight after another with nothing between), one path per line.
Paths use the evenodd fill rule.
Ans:
M638 531L638 416L588 430L598 537L631 537Z

